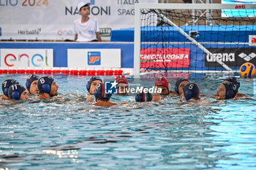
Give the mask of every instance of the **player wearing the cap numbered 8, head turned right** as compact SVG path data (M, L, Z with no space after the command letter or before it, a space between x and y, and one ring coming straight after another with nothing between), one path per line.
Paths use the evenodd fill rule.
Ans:
M40 77L39 80L37 80L37 88L39 90L40 99L45 99L58 95L59 86L56 84L53 77Z

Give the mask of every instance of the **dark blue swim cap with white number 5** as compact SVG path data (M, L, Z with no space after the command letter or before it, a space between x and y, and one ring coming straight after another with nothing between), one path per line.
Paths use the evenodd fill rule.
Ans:
M194 82L189 82L187 85L184 85L182 90L187 101L191 98L199 98L200 89Z

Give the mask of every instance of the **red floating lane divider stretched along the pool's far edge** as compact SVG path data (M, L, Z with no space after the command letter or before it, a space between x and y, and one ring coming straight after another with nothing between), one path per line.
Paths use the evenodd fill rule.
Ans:
M0 69L0 74L75 74L87 76L123 75L123 70Z

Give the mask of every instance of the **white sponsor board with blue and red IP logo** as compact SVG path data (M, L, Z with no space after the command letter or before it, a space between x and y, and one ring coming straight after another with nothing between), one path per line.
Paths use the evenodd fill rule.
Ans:
M67 66L72 69L121 68L121 49L68 49Z

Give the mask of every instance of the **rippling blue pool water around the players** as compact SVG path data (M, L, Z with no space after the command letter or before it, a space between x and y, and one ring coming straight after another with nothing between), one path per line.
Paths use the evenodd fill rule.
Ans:
M201 93L214 94L227 77L184 74ZM25 85L27 75L0 75ZM157 75L129 83L154 85ZM255 80L241 80L251 99L206 104L163 98L95 107L86 99L89 77L53 75L59 95L46 101L0 101L0 169L256 169ZM174 85L175 77L168 80Z

